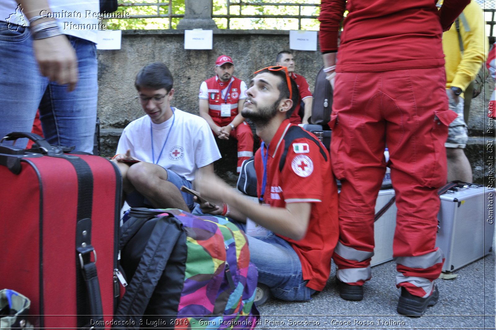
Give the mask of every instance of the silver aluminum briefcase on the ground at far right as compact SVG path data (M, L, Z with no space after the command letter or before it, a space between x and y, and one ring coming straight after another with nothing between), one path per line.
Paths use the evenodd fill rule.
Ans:
M494 189L469 183L440 195L436 246L445 257L442 271L454 271L492 251L494 197Z

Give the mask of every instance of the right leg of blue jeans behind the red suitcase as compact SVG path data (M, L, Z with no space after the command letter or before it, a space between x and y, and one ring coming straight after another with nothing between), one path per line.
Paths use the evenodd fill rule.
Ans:
M45 139L53 145L93 152L98 99L96 45L69 36L77 56L79 80L68 92L66 85L51 82L40 104L40 120Z

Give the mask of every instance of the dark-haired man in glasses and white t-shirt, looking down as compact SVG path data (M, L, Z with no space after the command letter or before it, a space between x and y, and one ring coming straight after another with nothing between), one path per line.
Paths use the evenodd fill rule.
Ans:
M193 198L180 187L192 187L196 170L213 173L221 158L210 128L201 117L171 107L173 78L165 64L144 66L134 85L145 115L124 128L114 157L126 201L131 207L191 210Z

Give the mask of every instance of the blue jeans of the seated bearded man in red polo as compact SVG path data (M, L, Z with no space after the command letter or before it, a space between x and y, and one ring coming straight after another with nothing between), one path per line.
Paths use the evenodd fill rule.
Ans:
M231 221L243 231L246 224ZM267 285L272 295L288 301L310 300L316 291L306 286L300 257L284 239L270 232L266 237L248 236L250 261L258 269L258 282Z

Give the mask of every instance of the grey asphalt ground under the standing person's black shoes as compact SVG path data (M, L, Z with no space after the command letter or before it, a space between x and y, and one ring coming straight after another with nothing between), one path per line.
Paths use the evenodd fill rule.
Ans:
M372 267L359 302L339 297L333 264L327 286L309 302L269 299L259 306L257 329L495 329L494 246L485 258L454 271L456 278L438 279L439 301L421 318L396 313L393 261Z

